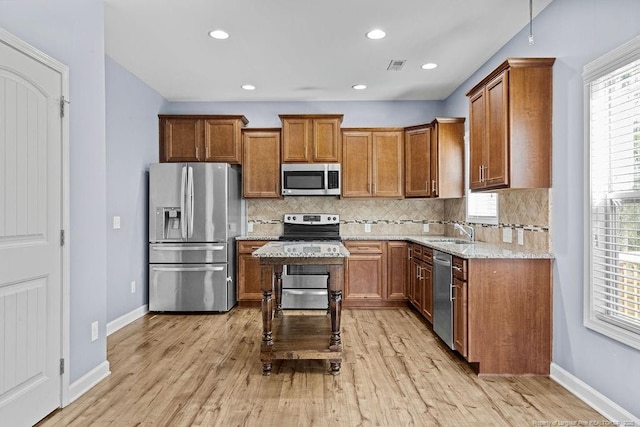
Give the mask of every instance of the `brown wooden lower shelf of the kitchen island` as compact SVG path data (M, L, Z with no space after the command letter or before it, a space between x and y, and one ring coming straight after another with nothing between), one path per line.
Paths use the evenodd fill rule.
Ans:
M342 344L331 345L329 316L284 315L273 319L273 344L262 343L260 359L327 359L342 358Z

